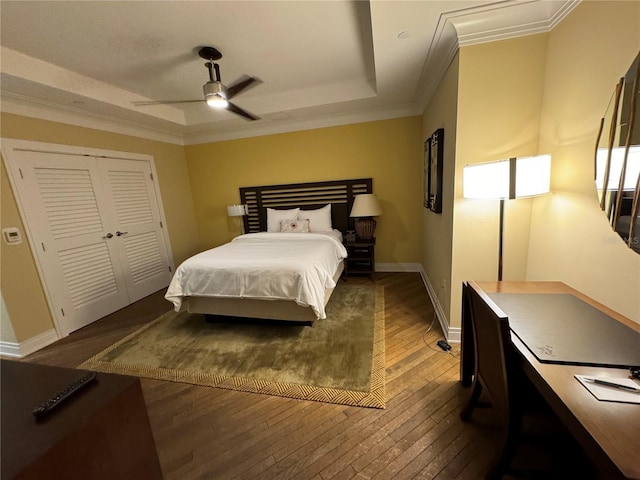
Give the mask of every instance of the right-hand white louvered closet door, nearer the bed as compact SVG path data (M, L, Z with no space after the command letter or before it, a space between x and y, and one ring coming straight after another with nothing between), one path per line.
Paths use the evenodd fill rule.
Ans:
M118 249L123 280L134 302L171 281L151 168L149 162L115 159L99 162L99 166L111 202L111 241Z

